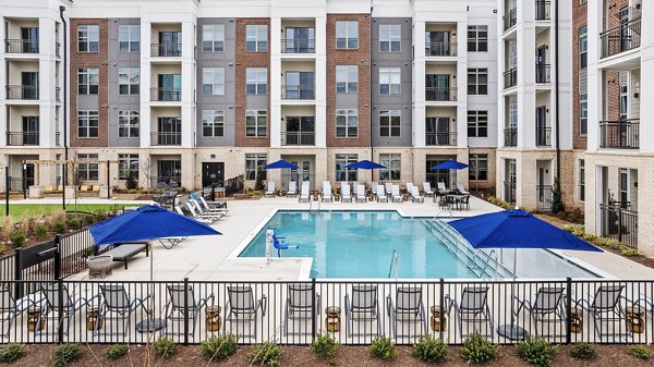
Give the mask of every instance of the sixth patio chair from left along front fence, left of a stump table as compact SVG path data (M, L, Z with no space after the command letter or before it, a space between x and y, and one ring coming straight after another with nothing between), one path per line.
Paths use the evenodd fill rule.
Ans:
M283 334L284 335L311 335L311 326L300 327L300 331L289 331L289 323L293 321L319 320L320 317L320 295L314 292L312 284L289 284L286 307L283 310ZM319 321L318 321L319 323ZM293 329L295 323L293 322Z

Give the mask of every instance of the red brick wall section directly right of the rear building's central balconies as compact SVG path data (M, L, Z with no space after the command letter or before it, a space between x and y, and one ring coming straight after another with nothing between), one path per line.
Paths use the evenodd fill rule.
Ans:
M336 22L359 22L359 48L336 48ZM336 136L336 66L359 66L359 134L353 137ZM327 15L327 146L371 146L371 19L370 14Z

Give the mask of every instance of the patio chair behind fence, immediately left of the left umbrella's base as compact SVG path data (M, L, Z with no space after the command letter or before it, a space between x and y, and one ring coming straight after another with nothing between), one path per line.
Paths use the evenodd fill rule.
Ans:
M148 310L145 306L145 302L150 297L147 295L143 298L130 297L125 288L119 284L102 284L100 285L100 293L102 295L102 303L100 304L100 315L105 319L105 327L94 331L94 335L120 335L121 332L113 331L109 321L122 321L122 335L129 335L132 323L132 314L142 308L143 311L149 317L152 310Z

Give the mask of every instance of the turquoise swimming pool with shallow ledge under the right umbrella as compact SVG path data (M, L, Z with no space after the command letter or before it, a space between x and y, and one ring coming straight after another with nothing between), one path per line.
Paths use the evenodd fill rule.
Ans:
M395 269L390 269L393 250L398 253L398 278L474 279L494 274L492 269L484 272L472 266L476 262L483 266L484 259L471 261L472 256L462 257L452 250L452 244L446 243L447 237L439 236L427 218L401 217L395 210L279 210L239 257L264 257L266 229L272 229L278 236L286 237L289 245L300 246L299 249L282 250L282 257L313 258L312 278L388 278L389 272L395 278ZM277 256L276 250L274 256ZM507 258L508 255L505 262ZM523 277L592 277L544 250L520 253L519 261L525 261L521 268L530 272L534 271L532 264L547 269L547 273L540 277L531 273ZM510 276L500 271L502 274ZM522 276L520 271L519 276Z

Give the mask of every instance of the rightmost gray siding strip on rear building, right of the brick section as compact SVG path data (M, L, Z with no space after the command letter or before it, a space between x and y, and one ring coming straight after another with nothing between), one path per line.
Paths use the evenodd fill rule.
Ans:
M400 52L379 52L379 25L399 24L401 28ZM412 102L412 22L410 17L375 17L371 29L371 54L373 59L371 88L372 88L372 135L373 145L380 147L410 147L412 144L411 130L411 102ZM379 68L400 68L401 69L401 91L399 96L379 95ZM399 137L379 136L379 111L400 110L401 131Z

